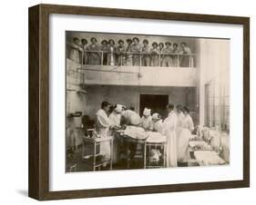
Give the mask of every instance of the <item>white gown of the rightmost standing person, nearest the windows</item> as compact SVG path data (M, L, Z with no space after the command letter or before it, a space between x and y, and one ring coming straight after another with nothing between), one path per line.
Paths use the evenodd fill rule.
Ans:
M191 131L194 130L194 124L191 117L184 116L182 121L182 130L178 139L178 161L187 162L189 159L189 138Z

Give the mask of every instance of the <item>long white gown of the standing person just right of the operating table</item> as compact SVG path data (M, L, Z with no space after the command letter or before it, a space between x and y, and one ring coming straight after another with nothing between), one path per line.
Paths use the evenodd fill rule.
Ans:
M175 112L169 112L164 120L164 132L167 136L167 167L177 167L177 142L176 142L176 124L177 115Z

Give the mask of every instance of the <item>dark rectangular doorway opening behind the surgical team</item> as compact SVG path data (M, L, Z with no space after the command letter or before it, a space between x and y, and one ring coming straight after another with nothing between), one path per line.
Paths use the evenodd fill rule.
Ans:
M167 117L166 105L169 103L168 94L140 94L139 114L142 116L144 108L151 109L151 114L158 112L162 118Z

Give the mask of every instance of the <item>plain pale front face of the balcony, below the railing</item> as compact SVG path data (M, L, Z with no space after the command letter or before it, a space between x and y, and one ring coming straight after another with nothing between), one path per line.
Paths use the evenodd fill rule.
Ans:
M139 86L195 87L196 68L85 66L85 83ZM96 72L97 71L97 72ZM109 72L106 72L109 71Z

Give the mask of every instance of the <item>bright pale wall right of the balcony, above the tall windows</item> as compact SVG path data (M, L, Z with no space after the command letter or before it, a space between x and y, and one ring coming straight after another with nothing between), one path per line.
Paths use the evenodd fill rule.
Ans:
M200 124L203 125L205 117L205 84L214 79L220 79L220 82L230 82L230 41L199 39L198 47L198 102Z

